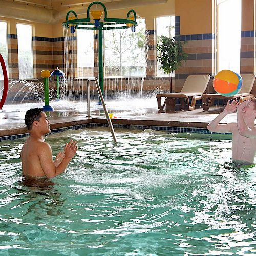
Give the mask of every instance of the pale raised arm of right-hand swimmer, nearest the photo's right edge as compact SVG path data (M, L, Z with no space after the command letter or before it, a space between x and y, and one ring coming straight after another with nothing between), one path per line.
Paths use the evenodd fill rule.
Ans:
M244 101L238 106L238 131L242 136L247 138L256 138L256 129L255 127L250 128L247 126L244 116L243 116L243 108L249 103L249 100Z

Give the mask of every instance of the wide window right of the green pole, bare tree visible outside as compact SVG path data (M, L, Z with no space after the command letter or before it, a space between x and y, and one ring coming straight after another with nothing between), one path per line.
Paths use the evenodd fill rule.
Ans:
M145 77L145 19L138 19L137 23L135 32L131 29L104 30L105 77Z

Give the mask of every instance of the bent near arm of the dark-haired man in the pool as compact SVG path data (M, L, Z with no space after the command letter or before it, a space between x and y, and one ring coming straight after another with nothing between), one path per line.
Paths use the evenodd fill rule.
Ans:
M76 141L70 141L65 147L65 157L61 163L56 167L52 159L52 149L49 144L43 143L40 147L39 159L42 170L47 178L55 177L63 173L69 162L77 151Z

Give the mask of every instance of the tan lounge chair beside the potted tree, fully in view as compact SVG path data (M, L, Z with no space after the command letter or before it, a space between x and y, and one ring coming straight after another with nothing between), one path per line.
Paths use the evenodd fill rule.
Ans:
M176 99L180 99L181 109L194 110L196 101L200 100L207 84L210 80L210 75L189 75L180 93L159 93L157 97L158 109L164 112L164 107L175 109ZM162 97L165 97L162 105ZM189 98L191 98L191 105L189 105Z

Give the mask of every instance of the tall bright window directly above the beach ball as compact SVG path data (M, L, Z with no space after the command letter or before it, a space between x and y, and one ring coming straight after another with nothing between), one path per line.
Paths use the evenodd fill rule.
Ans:
M217 72L240 73L241 0L219 0L217 4Z

